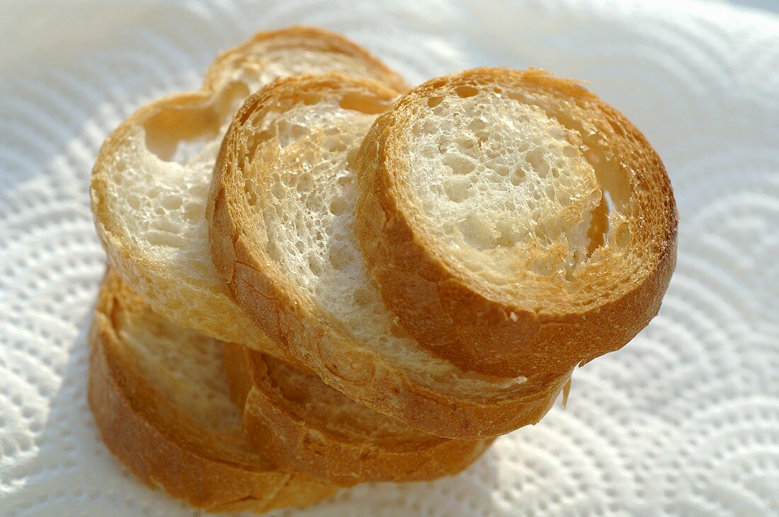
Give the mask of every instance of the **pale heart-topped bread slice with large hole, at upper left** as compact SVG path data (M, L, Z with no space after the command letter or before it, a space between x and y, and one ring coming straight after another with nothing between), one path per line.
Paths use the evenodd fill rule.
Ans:
M335 33L258 33L220 57L197 93L140 108L105 141L90 194L111 267L182 327L278 355L231 299L211 264L205 209L213 162L234 111L283 75L340 70L404 89L402 79Z

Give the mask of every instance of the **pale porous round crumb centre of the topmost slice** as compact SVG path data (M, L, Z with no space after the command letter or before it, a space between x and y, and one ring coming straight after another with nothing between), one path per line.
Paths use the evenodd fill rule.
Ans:
M586 258L601 203L594 168L575 131L504 95L460 89L428 100L404 142L409 188L432 236L473 274L497 284L524 271L566 274Z

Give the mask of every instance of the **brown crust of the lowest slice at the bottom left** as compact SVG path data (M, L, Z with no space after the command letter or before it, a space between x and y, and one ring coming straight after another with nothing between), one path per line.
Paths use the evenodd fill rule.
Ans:
M283 473L241 446L235 433L198 428L143 377L115 323L143 301L108 274L90 332L88 398L108 449L140 480L209 512L266 512L308 505L337 491ZM248 445L248 444L247 444Z

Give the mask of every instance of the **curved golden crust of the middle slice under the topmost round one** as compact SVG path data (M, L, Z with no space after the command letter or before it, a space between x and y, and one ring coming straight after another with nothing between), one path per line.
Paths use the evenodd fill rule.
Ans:
M344 85L383 98L394 95L378 83L337 74L282 79L251 96L234 117L214 167L206 212L217 271L266 334L325 383L374 410L446 438L485 438L537 422L554 403L573 366L505 388L503 379L496 383L498 393L493 395L464 388L454 370L442 382L411 376L404 365L382 361L368 348L355 346L357 338L342 321L294 292L263 257L245 199L239 163L243 157L236 155L241 126L252 113L299 96L305 89Z

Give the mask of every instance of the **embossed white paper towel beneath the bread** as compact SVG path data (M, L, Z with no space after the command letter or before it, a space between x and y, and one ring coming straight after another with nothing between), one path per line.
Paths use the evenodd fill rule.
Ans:
M191 515L119 466L86 408L104 267L88 174L118 121L196 88L217 50L308 23L411 82L473 65L589 80L660 152L682 222L660 316L576 372L566 410L458 477L299 515L779 515L779 18L692 1L122 4L2 6L0 514Z

